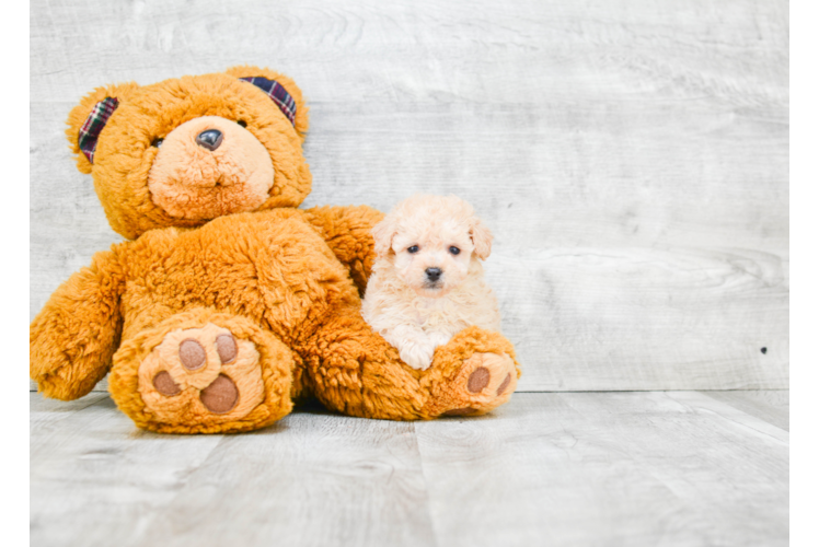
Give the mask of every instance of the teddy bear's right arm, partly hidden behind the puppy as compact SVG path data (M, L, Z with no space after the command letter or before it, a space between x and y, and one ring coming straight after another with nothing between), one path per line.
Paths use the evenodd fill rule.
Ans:
M314 207L304 216L349 270L359 294L364 294L376 260L372 226L384 214L371 207Z

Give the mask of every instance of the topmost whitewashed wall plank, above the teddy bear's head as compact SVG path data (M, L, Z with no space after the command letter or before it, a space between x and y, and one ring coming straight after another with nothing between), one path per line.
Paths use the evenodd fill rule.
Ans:
M30 96L272 65L313 102L539 103L620 94L778 103L782 7L734 0L30 3ZM77 56L78 51L94 55Z

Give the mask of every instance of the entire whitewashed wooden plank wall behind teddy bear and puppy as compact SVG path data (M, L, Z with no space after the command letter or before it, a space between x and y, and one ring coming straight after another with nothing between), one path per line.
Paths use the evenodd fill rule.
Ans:
M521 391L785 388L783 25L757 0L33 0L28 318L117 241L72 105L255 63L309 101L305 206L474 203Z

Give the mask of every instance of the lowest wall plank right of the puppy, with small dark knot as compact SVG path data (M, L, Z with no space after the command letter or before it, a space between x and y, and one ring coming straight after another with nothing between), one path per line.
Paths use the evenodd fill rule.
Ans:
M775 256L561 248L498 256L487 272L523 363L520 391L788 386Z

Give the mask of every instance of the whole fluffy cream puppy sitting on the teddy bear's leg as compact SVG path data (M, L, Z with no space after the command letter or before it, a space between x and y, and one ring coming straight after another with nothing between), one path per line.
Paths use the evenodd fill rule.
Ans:
M492 233L464 200L414 196L372 229L378 258L361 306L365 321L418 370L435 348L476 325L500 330L500 312L480 260Z

